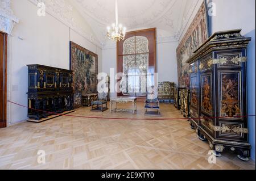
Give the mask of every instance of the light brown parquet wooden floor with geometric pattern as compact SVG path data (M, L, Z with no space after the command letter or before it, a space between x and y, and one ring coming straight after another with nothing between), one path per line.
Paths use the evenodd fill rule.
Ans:
M183 118L172 104L161 104L160 108L162 117ZM87 107L70 115L145 117L143 103L138 103L137 115L90 112ZM46 152L45 164L37 162L38 150ZM62 116L0 129L0 169L255 169L254 161L242 162L229 153L209 164L208 151L208 143L199 140L182 119Z

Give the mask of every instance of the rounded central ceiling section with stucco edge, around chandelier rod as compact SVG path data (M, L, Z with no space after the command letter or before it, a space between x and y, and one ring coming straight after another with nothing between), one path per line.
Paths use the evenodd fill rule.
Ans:
M129 7L126 7L127 11L119 12L119 18L122 20L122 22L125 23L126 27L131 28L136 26L143 26L145 24L152 24L160 19L162 16L164 16L168 11L170 11L176 1L178 0L147 0L147 2L143 4L143 6L140 6L141 9L139 9L139 11L136 8L131 9ZM106 26L113 23L112 16L114 17L114 12L112 11L112 9L108 9L105 3L106 1L101 0L74 1L74 4L78 7L78 9L82 9L82 12L84 14L88 15L97 23L104 24ZM109 1L109 3L108 5L112 5L114 1ZM133 2L130 2L130 4L134 6ZM157 6L157 8L154 11L149 11L152 10L152 7L154 6ZM124 15L123 13L126 14ZM140 18L138 19L138 17ZM129 21L126 22L126 20Z

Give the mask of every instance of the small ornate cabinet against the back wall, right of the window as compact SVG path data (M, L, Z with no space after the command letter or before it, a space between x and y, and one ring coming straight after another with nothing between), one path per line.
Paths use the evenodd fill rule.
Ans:
M162 103L174 103L174 82L159 82L158 83L158 99Z

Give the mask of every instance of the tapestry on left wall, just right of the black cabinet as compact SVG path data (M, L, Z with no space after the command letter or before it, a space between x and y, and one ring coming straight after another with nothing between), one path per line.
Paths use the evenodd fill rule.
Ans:
M74 107L80 107L82 95L97 92L98 56L72 41L70 42L70 53Z

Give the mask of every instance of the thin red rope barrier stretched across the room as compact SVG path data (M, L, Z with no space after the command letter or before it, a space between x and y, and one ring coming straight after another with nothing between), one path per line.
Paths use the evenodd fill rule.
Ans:
M24 108L28 108L27 106L24 106L22 104L18 104L15 102L12 102L10 100L7 100L7 102L10 102L12 104L15 104L16 106L20 106L20 107L24 107ZM94 117L94 116L75 116L75 115L65 115L65 114L61 114L61 113L56 113L56 112L48 112L48 111L43 111L43 110L37 110L35 108L28 108L34 111L40 111L40 112L45 112L45 113L49 113L52 115L60 115L60 116L68 116L68 117L82 117L82 118L90 118L90 119L112 119L112 120L187 120L188 118L121 118L121 117ZM246 115L246 116L235 116L235 117L253 117L255 115ZM203 117L199 117L199 118L193 118L193 119L202 119ZM204 117L206 119L220 119L220 118L234 118L234 117Z

